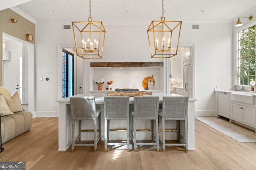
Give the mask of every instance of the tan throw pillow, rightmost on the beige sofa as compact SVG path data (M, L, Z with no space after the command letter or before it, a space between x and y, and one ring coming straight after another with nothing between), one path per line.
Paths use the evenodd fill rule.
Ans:
M18 92L14 93L14 95L11 98L8 98L7 96L4 96L4 98L10 108L10 111L14 113L18 111L24 111L21 106L20 96Z

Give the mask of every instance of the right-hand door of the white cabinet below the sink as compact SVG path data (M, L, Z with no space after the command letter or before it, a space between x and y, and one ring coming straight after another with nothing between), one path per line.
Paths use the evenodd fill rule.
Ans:
M255 108L242 106L242 122L255 126Z

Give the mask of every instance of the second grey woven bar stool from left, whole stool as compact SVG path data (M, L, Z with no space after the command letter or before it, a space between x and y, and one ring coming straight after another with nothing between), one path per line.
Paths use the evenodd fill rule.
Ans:
M108 145L127 145L130 151L130 115L128 96L105 96L104 97L104 116L105 116L105 144L104 151L107 152ZM126 143L108 143L110 120L126 120ZM120 129L115 129L119 131ZM123 129L122 129L123 130Z

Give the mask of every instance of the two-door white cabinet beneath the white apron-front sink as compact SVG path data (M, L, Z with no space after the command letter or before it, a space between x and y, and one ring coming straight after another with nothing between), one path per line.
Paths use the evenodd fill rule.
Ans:
M230 119L255 127L255 107L230 103Z

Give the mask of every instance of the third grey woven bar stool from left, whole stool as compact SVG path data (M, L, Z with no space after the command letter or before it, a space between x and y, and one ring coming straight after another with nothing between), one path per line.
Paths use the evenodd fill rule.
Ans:
M135 96L134 110L132 112L132 139L134 152L137 151L138 145L156 145L156 151L159 152L159 135L158 135L158 96ZM151 132L154 143L137 143L136 124L138 120L151 120ZM156 127L156 136L154 135L154 121ZM142 130L143 131L143 130Z

